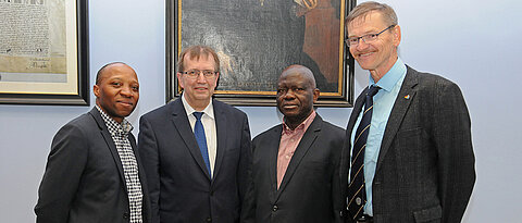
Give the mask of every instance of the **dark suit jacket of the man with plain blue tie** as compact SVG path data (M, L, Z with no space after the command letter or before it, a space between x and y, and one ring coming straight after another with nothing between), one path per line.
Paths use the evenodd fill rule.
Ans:
M212 179L182 99L140 119L139 153L147 172L153 222L239 221L250 181L251 141L247 115L213 100L217 152Z

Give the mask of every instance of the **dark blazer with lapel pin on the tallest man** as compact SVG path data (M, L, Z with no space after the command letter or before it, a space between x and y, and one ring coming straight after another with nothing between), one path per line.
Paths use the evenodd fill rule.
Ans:
M366 90L358 97L346 131L341 161L345 207L349 138ZM375 223L460 222L475 182L470 128L459 87L408 66L378 153L372 185Z

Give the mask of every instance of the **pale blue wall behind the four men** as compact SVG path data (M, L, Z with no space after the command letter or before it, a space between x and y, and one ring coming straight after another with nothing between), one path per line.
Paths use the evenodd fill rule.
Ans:
M458 83L472 115L477 182L463 222L522 222L522 110L515 83L522 83L522 2L386 0L399 16L399 54L419 71ZM92 0L89 5L90 79L110 61L136 69L138 119L164 103L165 2ZM356 71L356 92L368 84ZM94 97L91 103L94 104ZM239 108L252 135L279 123L275 108ZM54 133L86 107L0 106L0 222L34 222L33 207ZM319 109L346 127L351 109ZM136 129L137 133L137 129Z

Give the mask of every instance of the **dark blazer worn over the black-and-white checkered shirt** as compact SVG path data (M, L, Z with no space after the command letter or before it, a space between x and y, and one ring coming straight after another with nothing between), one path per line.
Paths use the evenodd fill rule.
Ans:
M128 140L136 151L132 134ZM144 190L144 222L150 222L146 177L139 156L135 156ZM64 125L54 136L38 195L38 223L129 222L122 162L96 108Z

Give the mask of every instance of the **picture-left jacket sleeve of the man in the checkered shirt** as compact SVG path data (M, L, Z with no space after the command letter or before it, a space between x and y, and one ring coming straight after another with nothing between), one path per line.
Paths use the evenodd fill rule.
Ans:
M37 223L67 222L87 163L89 145L79 126L67 124L54 136L35 207Z

